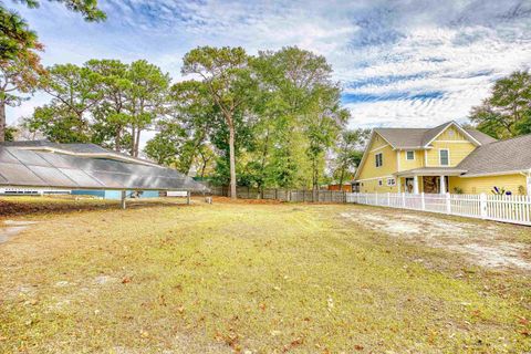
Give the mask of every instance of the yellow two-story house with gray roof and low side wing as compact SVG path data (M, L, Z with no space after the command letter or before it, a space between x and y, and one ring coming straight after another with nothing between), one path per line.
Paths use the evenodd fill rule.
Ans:
M375 128L354 177L361 192L531 194L531 135L497 140L448 122Z

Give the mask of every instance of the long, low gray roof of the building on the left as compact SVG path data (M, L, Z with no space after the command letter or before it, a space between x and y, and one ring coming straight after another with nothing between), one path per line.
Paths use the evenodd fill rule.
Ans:
M162 166L3 145L0 145L0 185L65 189L207 189L190 177Z

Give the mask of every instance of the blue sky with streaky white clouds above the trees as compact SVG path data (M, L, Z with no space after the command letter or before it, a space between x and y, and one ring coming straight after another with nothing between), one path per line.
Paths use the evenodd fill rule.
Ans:
M3 1L38 31L45 64L147 59L178 81L183 55L198 45L314 51L342 83L353 127L465 122L493 81L531 65L531 0L100 0L104 23L54 2ZM10 108L8 122L46 101Z

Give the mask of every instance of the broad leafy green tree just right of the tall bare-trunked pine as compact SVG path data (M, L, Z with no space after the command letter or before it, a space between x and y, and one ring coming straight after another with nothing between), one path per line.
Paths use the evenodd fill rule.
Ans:
M325 153L348 118L340 107L341 90L331 80L332 67L324 56L296 46L260 52L253 66L268 95L264 112L272 127L268 136L277 147L270 149L269 170L280 186L317 188Z

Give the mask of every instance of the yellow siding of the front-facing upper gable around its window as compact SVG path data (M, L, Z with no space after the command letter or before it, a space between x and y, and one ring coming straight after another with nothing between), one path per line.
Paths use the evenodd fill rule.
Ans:
M476 146L470 143L467 137L465 137L455 127L449 127L442 132L437 139L430 144L431 149L427 152L426 166L427 167L438 167L440 166L439 150L448 149L449 150L449 165L455 167L459 165L465 157L467 157Z

